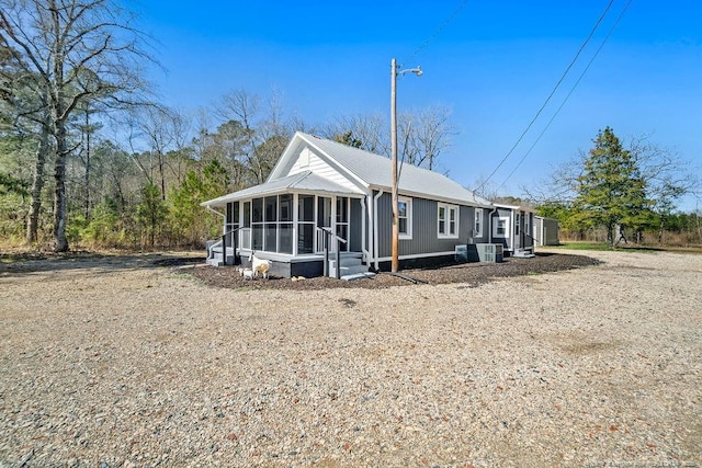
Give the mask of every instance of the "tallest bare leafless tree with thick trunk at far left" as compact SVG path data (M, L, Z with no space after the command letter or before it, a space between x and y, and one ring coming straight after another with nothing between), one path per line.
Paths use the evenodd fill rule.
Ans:
M144 95L146 37L134 15L111 0L0 0L0 34L26 71L36 73L47 100L56 144L54 242L66 251L66 160L75 149L69 118L84 101L122 105Z

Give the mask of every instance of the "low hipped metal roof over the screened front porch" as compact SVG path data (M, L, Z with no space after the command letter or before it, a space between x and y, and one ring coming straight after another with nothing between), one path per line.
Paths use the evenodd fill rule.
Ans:
M335 195L358 196L363 195L361 192L354 192L327 179L312 173L310 171L299 172L286 178L278 179L249 189L240 190L217 198L203 202L201 206L225 206L229 202L238 199L251 198L256 196L275 195L287 192L314 192L328 193Z

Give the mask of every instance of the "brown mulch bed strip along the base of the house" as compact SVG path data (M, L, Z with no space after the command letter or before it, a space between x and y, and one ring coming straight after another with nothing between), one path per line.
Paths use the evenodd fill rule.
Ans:
M463 263L437 266L432 269L403 270L401 274L421 283L448 284L467 283L471 287L487 283L494 278L539 275L547 272L571 270L601 263L599 260L561 253L543 253L532 259L506 259L502 263ZM414 283L398 276L381 273L374 278L355 281L338 281L328 277L290 278L271 277L270 279L244 279L235 267L197 266L188 270L205 284L225 288L252 289L326 289L326 288L386 288L392 286L412 286Z

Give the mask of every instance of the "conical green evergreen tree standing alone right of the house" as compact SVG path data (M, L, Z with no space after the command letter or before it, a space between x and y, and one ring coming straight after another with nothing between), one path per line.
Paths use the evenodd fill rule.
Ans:
M631 151L622 147L610 127L598 133L595 147L578 178L575 199L578 221L587 227L603 226L614 246L616 227L641 227L648 202L646 183Z

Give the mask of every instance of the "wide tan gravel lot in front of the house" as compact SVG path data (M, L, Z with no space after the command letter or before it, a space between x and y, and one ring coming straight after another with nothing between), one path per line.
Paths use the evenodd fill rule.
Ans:
M0 265L0 467L701 466L702 255L587 255L370 289Z

